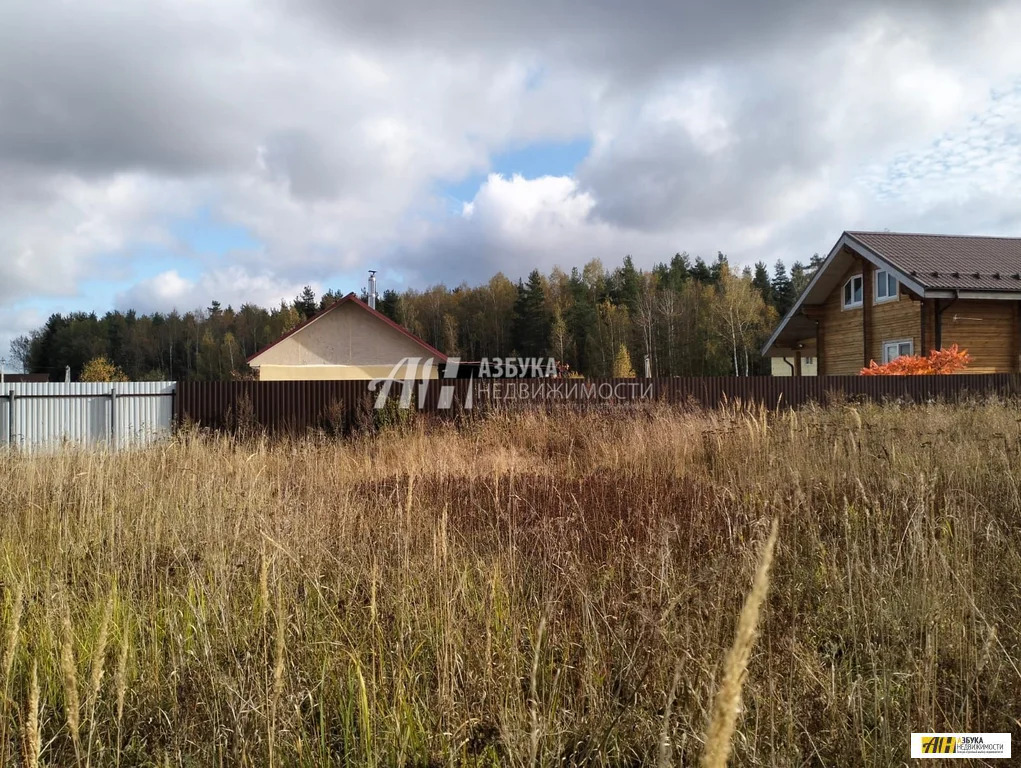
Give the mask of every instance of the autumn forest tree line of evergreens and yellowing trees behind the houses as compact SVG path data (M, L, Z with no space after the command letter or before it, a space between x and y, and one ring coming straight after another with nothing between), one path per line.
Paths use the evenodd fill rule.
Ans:
M820 259L777 261L737 272L722 253L707 263L678 253L651 270L630 256L613 270L598 260L566 273L533 271L517 283L503 274L479 286L386 290L377 308L448 355L553 356L584 376L610 376L622 347L639 375L769 373L759 349L811 279ZM105 358L131 380L249 378L246 358L344 295L317 297L306 287L293 301L235 309L142 315L134 310L53 315L11 344L29 373L79 380Z

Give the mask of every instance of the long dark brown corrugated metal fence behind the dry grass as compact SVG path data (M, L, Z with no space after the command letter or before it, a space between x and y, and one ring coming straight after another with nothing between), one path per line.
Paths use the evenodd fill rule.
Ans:
M425 385L425 386L423 386ZM212 429L246 426L270 432L343 432L399 418L406 385L393 382L382 412L368 381L179 382L176 417ZM414 382L412 407L450 417L492 407L610 407L666 402L716 409L725 404L799 407L840 400L958 402L1021 393L1021 375L701 377L660 379L483 379Z

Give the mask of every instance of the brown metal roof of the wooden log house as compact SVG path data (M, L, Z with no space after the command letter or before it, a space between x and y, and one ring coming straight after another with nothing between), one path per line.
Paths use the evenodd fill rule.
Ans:
M1021 291L1021 238L846 234L926 289Z

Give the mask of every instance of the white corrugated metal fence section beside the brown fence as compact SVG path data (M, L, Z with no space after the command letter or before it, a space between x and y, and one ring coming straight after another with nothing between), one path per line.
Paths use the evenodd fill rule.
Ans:
M5 383L0 387L0 446L145 445L171 433L174 392L173 381Z

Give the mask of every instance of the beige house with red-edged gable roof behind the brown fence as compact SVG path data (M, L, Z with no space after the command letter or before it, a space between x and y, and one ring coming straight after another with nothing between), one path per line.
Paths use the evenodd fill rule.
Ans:
M418 369L395 370L405 358L417 359ZM422 378L427 362L436 378L446 355L353 293L248 358L262 381Z

